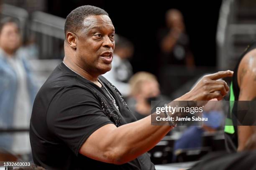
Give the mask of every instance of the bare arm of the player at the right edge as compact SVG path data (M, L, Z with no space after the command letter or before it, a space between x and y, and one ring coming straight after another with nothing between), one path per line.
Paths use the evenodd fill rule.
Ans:
M243 57L238 67L240 101L251 101L256 97L256 50ZM238 151L244 150L246 142L254 133L253 126L238 126Z

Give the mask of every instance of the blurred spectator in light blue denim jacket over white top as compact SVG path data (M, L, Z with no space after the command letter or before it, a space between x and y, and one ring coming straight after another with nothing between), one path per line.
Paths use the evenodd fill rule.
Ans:
M13 18L0 21L0 128L28 128L37 88L20 47ZM0 147L18 154L30 152L28 133L0 134Z

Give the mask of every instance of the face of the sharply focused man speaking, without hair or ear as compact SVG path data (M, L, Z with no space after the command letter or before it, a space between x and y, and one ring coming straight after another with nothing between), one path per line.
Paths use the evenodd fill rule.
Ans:
M85 18L83 25L77 33L79 66L91 74L105 74L111 69L115 49L112 21L107 15L94 15Z

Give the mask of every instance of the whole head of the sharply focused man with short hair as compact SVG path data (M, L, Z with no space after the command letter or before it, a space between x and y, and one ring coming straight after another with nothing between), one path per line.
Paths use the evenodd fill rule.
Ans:
M74 9L65 22L65 57L90 74L111 69L115 28L108 13L84 5Z

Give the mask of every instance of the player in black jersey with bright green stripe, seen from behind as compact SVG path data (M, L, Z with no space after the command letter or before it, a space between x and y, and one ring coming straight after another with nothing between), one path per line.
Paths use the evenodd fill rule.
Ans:
M256 41L251 43L238 59L234 69L234 76L230 85L231 101L255 101L256 100ZM253 114L242 115L238 112L238 104L230 104L230 114L226 119L225 142L229 152L243 151L248 140L256 135L255 126L233 126L235 122L243 120L243 125L252 125L256 122L255 110ZM237 120L237 117L238 120ZM256 139L256 138L254 138Z

